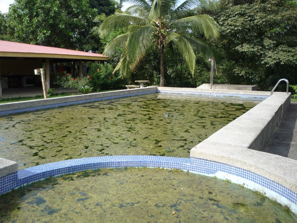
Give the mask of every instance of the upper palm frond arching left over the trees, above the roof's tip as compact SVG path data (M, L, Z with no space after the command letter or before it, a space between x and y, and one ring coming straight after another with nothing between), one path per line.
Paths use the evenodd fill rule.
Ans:
M100 37L106 37L110 32L130 26L131 24L145 26L149 25L149 21L134 15L128 15L126 13L115 13L107 17L103 23L99 26Z

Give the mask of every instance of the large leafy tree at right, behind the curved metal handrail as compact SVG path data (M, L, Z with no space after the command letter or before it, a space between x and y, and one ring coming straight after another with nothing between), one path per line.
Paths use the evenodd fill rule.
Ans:
M294 0L220 0L219 67L230 83L263 90L280 78L296 83L296 12Z

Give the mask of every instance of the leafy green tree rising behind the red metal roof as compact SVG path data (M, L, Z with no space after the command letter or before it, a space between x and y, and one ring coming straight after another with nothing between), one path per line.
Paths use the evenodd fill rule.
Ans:
M102 44L93 34L95 17L105 13L104 10L113 13L115 4L113 0L92 3L91 6L89 0L15 0L7 14L7 31L22 43L97 52Z

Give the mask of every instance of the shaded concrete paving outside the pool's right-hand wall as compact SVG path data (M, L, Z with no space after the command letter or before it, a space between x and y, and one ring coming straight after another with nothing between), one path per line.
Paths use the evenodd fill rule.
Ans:
M291 102L284 119L263 150L297 160L297 102Z

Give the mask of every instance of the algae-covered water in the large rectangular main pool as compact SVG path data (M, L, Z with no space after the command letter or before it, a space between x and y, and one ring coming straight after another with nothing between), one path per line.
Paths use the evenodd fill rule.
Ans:
M187 158L257 103L155 93L0 117L0 157L19 169L93 156Z

